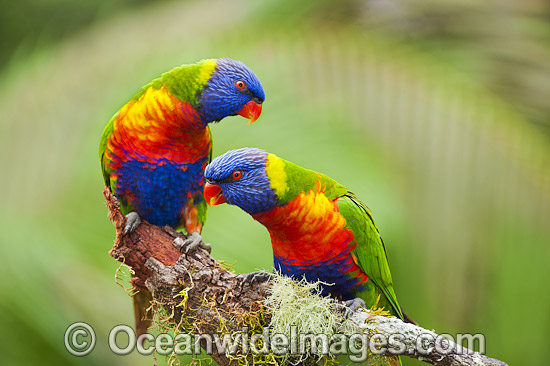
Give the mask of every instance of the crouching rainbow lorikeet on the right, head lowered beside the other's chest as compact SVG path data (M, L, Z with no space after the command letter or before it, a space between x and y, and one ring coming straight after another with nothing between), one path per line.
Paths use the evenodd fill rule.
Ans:
M347 188L255 148L218 156L204 175L210 205L236 205L267 228L276 271L321 280L325 295L352 307L380 296L379 306L404 319L372 213Z

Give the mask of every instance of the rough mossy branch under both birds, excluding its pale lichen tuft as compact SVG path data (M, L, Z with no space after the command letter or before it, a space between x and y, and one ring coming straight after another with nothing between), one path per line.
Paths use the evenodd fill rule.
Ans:
M170 227L158 227L144 221L133 233L123 235L125 217L119 210L119 203L109 189L103 193L109 219L116 228L110 255L132 268L135 290L151 291L154 302L161 304L165 312L169 309L173 324L195 334L236 334L245 326L261 332L262 327L269 325L271 314L265 307L265 300L270 295L271 284L251 284L246 281L246 275L228 271L204 250L180 253L172 242L178 236L185 236ZM351 324L356 333L367 334L369 340L374 334L388 339L398 333L402 335L400 341L407 350L415 350L421 336L426 338L425 335L431 335L432 343L438 337L419 326L372 311L355 312ZM442 344L444 349L452 349L451 352L438 352L434 344L429 343L429 340L428 344L423 343L428 352L405 352L404 355L432 365L506 366L502 361L469 351L447 340L443 340ZM212 357L224 366L242 364L246 360L246 355L220 354L215 350ZM273 357L271 364L277 364L281 359L284 358ZM313 363L308 359L301 364Z

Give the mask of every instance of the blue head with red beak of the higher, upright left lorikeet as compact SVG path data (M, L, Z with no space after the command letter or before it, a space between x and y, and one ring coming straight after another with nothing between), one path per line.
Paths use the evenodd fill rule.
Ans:
M252 123L262 112L262 83L242 62L221 58L199 97L198 112L204 122L218 122L240 114Z

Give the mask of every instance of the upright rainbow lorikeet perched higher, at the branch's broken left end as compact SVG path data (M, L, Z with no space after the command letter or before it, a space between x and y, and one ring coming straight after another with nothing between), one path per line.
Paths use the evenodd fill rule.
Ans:
M143 87L109 121L99 145L105 184L126 214L125 232L141 218L185 229L180 247L209 249L200 237L206 220L203 171L212 159L208 124L242 115L254 122L265 93L242 62L222 58L174 68ZM141 218L140 218L141 217ZM151 295L134 296L138 334Z

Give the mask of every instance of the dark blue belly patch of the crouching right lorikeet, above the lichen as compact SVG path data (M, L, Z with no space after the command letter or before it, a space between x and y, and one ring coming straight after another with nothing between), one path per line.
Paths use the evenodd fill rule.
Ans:
M341 300L351 300L357 297L359 292L368 290L372 286L368 286L368 283L360 283L358 278L346 273L344 271L344 268L347 267L345 262L346 259L341 258L308 266L297 266L292 264L292 260L273 257L275 270L280 271L283 275L296 279L305 277L309 282L325 282L327 285L323 285L322 291L324 296L331 295Z

